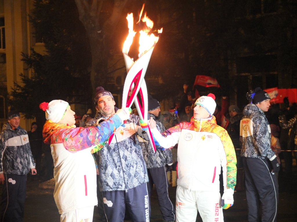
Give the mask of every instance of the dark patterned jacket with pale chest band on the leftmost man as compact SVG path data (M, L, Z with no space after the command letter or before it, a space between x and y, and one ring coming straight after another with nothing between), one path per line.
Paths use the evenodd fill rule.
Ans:
M26 175L35 167L26 130L5 124L0 136L0 159L0 172L4 166L5 173Z

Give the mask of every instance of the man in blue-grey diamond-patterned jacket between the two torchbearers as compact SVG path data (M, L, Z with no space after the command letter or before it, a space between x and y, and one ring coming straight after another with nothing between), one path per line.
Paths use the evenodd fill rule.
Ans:
M112 94L102 87L97 87L94 102L98 112L86 126L96 126L97 120L108 119L117 110ZM131 114L96 155L102 192L98 202L103 202L108 222L124 221L126 207L132 221L149 221L149 177L137 136L142 133L139 120Z

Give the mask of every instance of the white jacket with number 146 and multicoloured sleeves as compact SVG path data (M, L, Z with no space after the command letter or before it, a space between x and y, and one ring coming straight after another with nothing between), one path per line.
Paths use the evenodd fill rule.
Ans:
M156 146L168 149L178 144L177 184L195 191L219 191L223 168L224 191L236 185L236 155L227 131L215 117L194 120L166 130L152 129Z

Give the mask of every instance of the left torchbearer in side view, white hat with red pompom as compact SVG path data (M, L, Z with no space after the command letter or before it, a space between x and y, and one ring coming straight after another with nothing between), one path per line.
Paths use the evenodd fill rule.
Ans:
M97 152L113 131L129 118L129 108L118 110L97 127L75 128L75 117L67 102L43 102L47 121L43 127L45 143L50 144L56 187L54 199L61 222L93 221L97 205L96 168L92 152Z

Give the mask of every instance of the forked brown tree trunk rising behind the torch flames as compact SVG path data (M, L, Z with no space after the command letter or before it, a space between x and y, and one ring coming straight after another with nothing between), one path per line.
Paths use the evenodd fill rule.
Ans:
M89 36L92 55L90 78L94 94L97 86L107 84L109 40L116 29L127 0L114 0L113 13L103 25L99 24L103 0L92 0L91 3L87 0L75 0L75 3L78 7L80 21Z

